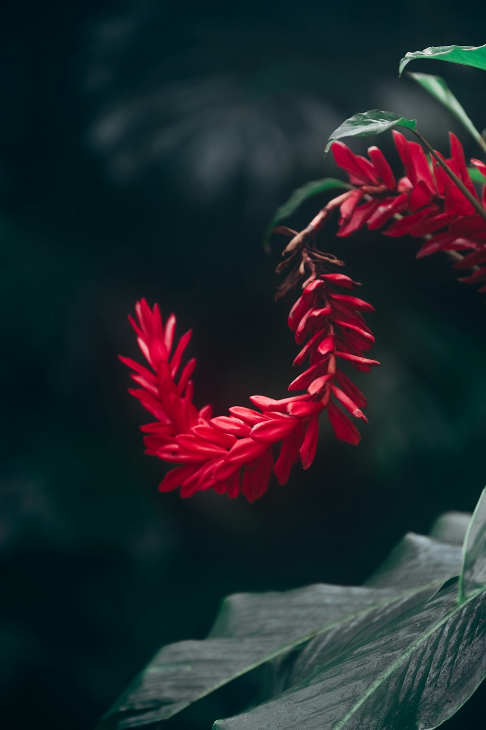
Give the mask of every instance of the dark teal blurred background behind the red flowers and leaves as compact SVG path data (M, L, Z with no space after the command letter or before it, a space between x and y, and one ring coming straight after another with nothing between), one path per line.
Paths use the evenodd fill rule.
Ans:
M322 247L377 308L382 366L359 379L370 425L357 449L323 426L313 468L253 505L157 492L165 467L138 433L150 417L117 361L136 353L126 315L146 296L177 313L179 333L195 330L199 406L283 397L296 350L291 298L273 302L282 242L264 254L267 221L297 185L341 176L324 144L357 111L418 117L442 151L451 128L478 155L397 77L407 50L484 43L470 10L443 0L4 9L2 727L91 728L160 645L203 637L225 594L361 583L404 531L474 507L484 300L445 258L415 261L415 241L329 229ZM415 70L444 75L485 126L485 74ZM390 142L377 143L398 171ZM289 223L303 227L324 201ZM178 726L211 728L234 709L224 702ZM468 707L451 728L468 726Z

